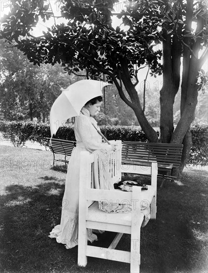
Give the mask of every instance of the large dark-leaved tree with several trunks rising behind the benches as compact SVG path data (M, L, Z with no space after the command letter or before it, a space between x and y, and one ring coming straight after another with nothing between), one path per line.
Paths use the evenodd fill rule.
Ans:
M62 64L69 73L87 69L89 77L104 73L114 82L122 100L130 106L147 138L152 142L184 144L181 171L191 148L190 125L194 120L199 85L197 80L208 52L207 2L195 0L127 1L118 14L127 30L112 26L113 0L61 0L61 14L67 20L40 37L31 35L39 17L53 16L44 0L18 0L5 16L1 38L23 51L30 62L40 65ZM38 5L34 3L38 2ZM53 16L55 18L55 16ZM194 24L196 27L194 27ZM160 90L160 139L146 119L136 90L138 71L149 67L161 74L162 42L163 86ZM204 52L201 54L201 51ZM181 86L181 118L174 130L173 104ZM102 74L101 74L102 73ZM136 81L136 82L135 82ZM124 93L126 89L129 98ZM145 96L144 96L145 97Z

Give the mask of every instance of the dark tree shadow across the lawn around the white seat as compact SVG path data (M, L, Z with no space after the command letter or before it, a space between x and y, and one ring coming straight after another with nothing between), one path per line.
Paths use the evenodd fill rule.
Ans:
M64 185L54 182L54 177L41 179L43 183L34 187L7 186L7 194L0 197L1 272L130 272L128 264L95 258L88 258L86 268L78 268L77 247L66 250L48 237L60 223ZM200 200L196 202L205 188L200 178L191 179L185 173L185 186L168 183L158 190L157 219L141 229L141 273L202 273L205 269L206 242L196 232L204 234L206 226L195 224L206 222L206 209ZM95 245L107 246L112 236L109 232L98 235ZM130 250L129 235L123 236L118 249Z

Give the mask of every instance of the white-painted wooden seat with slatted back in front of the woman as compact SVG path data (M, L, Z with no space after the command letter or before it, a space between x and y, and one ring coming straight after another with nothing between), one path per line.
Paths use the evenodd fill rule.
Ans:
M79 224L78 224L78 265L87 265L87 256L130 263L131 273L139 273L140 265L140 227L143 221L140 205L151 204L151 218L156 218L156 182L157 163L151 166L134 166L121 164L121 149L112 153L109 160L111 175L115 181L121 178L122 172L150 174L151 186L147 191L133 187L133 192L120 190L98 190L93 187L94 155L88 152L81 154L79 184ZM122 168L125 168L122 170ZM132 205L130 213L107 213L99 210L98 202L117 200ZM97 202L98 201L98 202ZM87 245L87 228L118 232L109 248ZM116 250L116 246L124 233L131 234L131 251Z

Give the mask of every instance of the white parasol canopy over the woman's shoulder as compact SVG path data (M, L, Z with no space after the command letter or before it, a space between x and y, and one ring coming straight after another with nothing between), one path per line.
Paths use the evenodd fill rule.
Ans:
M79 116L81 108L91 99L102 96L102 88L107 82L83 79L68 88L55 100L50 112L51 136L56 135L59 127L72 117Z

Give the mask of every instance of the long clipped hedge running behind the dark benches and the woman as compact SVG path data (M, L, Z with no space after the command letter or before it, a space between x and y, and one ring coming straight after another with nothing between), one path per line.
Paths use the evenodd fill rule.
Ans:
M101 132L108 139L122 141L148 142L143 131L126 126L101 126ZM47 124L33 122L4 122L0 121L0 132L9 139L14 146L23 146L27 140L45 145L45 137L50 137L50 127ZM191 128L193 145L187 164L208 165L208 126L195 125ZM159 135L159 132L157 132ZM56 138L74 140L73 125L60 127Z

